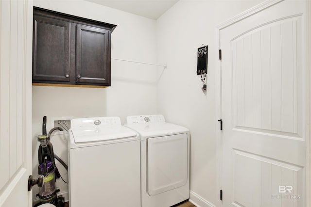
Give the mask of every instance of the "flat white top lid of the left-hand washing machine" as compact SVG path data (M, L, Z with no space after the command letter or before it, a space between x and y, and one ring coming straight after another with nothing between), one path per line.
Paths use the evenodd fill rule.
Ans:
M96 128L72 129L75 143L86 143L96 141L108 141L122 138L136 137L135 131L121 125L112 125Z

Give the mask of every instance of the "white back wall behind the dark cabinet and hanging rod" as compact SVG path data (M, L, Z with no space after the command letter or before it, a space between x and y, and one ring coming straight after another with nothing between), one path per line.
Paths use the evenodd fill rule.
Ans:
M140 62L156 62L155 20L132 15L84 0L35 0L34 6L118 25L111 34L111 57ZM156 113L157 70L155 66L112 60L111 87L71 88L33 86L33 175L37 175L37 135L42 134L42 118L47 130L52 117L120 116ZM58 132L55 132L59 134ZM67 163L66 136L52 136L54 152ZM67 172L56 161L61 175ZM91 177L91 175L90 175ZM58 180L61 192L68 186ZM38 193L34 188L33 196Z

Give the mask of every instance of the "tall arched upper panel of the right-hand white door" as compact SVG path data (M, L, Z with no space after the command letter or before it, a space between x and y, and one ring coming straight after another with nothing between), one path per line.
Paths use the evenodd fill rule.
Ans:
M232 40L235 126L298 132L301 21L278 20Z

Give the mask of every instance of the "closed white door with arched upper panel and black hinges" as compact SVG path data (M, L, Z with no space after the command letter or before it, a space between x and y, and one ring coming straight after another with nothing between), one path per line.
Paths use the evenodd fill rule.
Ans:
M267 1L219 27L223 207L305 207L306 2Z

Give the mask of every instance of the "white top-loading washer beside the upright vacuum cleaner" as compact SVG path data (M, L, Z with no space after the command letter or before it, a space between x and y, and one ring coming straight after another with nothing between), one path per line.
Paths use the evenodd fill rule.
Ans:
M119 117L72 119L70 207L140 207L138 134Z

